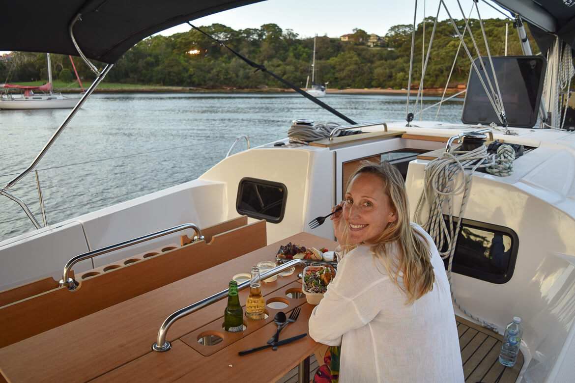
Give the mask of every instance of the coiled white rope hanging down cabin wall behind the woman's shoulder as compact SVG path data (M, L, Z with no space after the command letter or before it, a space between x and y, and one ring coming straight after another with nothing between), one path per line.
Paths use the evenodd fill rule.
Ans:
M511 154L511 152L513 154ZM447 264L447 278L451 290L453 303L457 305L469 318L481 323L482 326L498 332L497 327L490 322L478 318L467 312L465 308L458 303L453 290L451 281L451 267L453 265L453 256L455 254L455 245L461 229L461 220L465 212L467 199L471 189L471 176L478 168L486 168L486 171L494 175L508 176L513 172L513 160L515 151L509 145L501 145L497 148L497 154L488 154L485 145L478 148L461 151L444 152L442 156L430 161L425 166L424 171L424 189L415 210L415 220L431 235L435 244L438 246L442 259L449 258ZM470 172L467 173L466 169ZM457 179L459 180L457 183ZM463 198L459 207L459 219L457 226L453 230L453 196L463 189ZM447 199L447 210L449 215L449 227L447 227L443 218L443 207ZM428 206L427 217L421 219L424 207ZM446 243L447 249L441 252L443 245Z

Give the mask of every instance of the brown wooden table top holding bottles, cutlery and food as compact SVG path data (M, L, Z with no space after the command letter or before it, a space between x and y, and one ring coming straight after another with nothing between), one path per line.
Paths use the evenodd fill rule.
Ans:
M278 311L289 316L296 307L302 312L295 323L282 331L280 338L308 332L313 306L305 297L286 296L290 289L301 289L297 274L262 283L266 304L283 301L288 307L267 307L264 320L246 319L247 329L240 333L223 331L226 299L204 307L175 322L167 332L172 349L155 353L160 324L173 312L228 287L232 276L249 272L252 265L275 260L279 245L287 242L301 246L333 249L336 242L309 233L300 233L262 247L234 260L165 285L143 295L105 308L21 342L0 349L0 372L7 381L275 381L319 347L306 336L296 342L256 353L237 355L238 351L265 345L277 328L273 317ZM142 276L141 283L145 283ZM244 304L249 289L240 291ZM73 292L71 292L73 293ZM2 331L9 331L3 329ZM214 346L197 339L206 334L223 336Z

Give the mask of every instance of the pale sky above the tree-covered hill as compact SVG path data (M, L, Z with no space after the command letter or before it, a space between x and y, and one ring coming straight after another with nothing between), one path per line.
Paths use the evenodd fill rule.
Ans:
M461 19L457 0L444 0L453 18ZM473 6L473 0L459 0L466 16ZM492 4L492 3L490 3ZM354 28L385 36L389 28L398 24L413 24L415 0L267 0L194 20L196 26L214 23L224 24L232 29L259 28L263 24L277 24L283 30L293 29L300 38L318 36L339 37L353 33ZM439 0L419 0L417 23L425 17L435 17ZM481 0L478 3L481 18L505 18L499 11ZM499 7L497 7L500 9ZM508 15L508 12L505 12ZM471 18L477 18L475 9ZM440 11L439 20L446 20L445 10ZM186 32L190 26L182 24L166 29L160 34L170 36ZM0 52L7 53L7 52Z

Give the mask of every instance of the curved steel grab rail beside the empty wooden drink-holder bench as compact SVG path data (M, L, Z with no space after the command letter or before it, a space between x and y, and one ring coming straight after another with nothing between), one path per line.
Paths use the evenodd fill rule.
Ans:
M156 231L156 233L147 234L147 235L143 235L142 237L129 239L128 241L116 243L116 245L110 245L110 246L102 247L102 249L92 250L91 252L87 252L87 253L80 254L79 256L75 256L74 258L72 258L70 261L68 261L66 263L66 266L64 266L64 272L62 273L62 279L60 280L60 286L64 286L64 285L67 286L68 290L70 290L70 291L73 291L76 289L76 284L74 283L74 280L72 278L68 277L68 274L70 274L70 270L72 269L72 266L74 266L74 264L78 263L79 261L87 260L87 259L90 259L90 258L93 258L96 256L101 256L102 254L113 252L114 250L124 249L124 247L137 245L137 243L150 241L150 239L163 237L163 235L176 233L177 231L181 231L181 230L185 230L185 229L194 229L194 231L196 231L196 236L194 237L194 242L196 242L198 240L202 241L204 239L204 236L202 235L199 227L197 227L193 223L184 223L183 225L174 226L174 227L171 227L170 229L166 229L166 230L162 230L162 231Z

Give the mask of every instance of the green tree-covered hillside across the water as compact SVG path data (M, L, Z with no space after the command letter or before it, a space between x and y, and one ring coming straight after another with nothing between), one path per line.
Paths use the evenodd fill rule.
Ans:
M505 20L484 20L489 49L493 56L505 49ZM460 32L465 22L457 21ZM473 36L482 55L485 44L478 20L470 20ZM282 76L297 86L305 86L313 53L313 38L298 38L292 30L282 30L275 24L259 29L233 30L221 24L200 27L230 48ZM419 86L422 45L429 44L432 18L417 26L412 87ZM423 30L425 29L425 42ZM409 53L412 26L396 25L385 36L382 46L367 47L367 33L354 29L350 41L317 37L316 82L329 83L331 88L405 88L408 84ZM476 57L469 33L467 47ZM530 36L534 53L538 48ZM435 32L430 61L424 80L425 87L445 86L448 73L458 51L459 38L451 22L441 21ZM508 55L522 55L517 32L509 23ZM74 72L67 56L51 55L54 79L71 82ZM89 83L93 73L79 59L74 63L83 82ZM102 63L96 65L103 67ZM463 48L459 49L450 86L466 83L470 63ZM39 53L17 52L6 66L0 63L0 81L22 83L47 79L46 56ZM255 71L244 61L210 40L197 30L172 36L152 36L140 41L118 60L105 82L204 88L281 88L282 83L262 71Z

